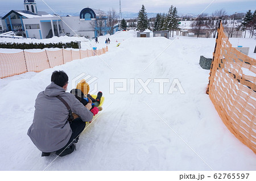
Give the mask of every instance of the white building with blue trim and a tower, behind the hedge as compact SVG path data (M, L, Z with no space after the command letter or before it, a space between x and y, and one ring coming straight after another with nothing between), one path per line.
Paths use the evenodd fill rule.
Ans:
M3 31L19 32L20 35L36 39L62 35L93 38L100 36L98 32L102 35L109 32L107 19L104 11L89 7L82 9L80 16L51 15L38 11L35 0L24 0L24 10L11 10L3 16L0 26ZM98 21L104 22L104 25L98 27ZM118 31L118 27L114 28L113 33L115 31Z

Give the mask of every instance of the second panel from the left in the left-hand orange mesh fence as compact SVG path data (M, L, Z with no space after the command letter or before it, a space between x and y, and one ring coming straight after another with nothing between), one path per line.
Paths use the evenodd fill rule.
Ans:
M47 58L46 51L43 52L24 52L27 64L27 71L39 72L51 68Z

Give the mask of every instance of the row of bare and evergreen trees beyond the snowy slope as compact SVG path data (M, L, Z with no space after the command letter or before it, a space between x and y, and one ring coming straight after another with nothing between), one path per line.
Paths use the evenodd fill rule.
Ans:
M98 35L102 35L102 31L107 31L107 33L112 35L114 26L118 23L118 18L118 14L114 9L109 10L107 15L100 14L97 20L92 23L92 27L96 27ZM208 31L208 36L213 35L215 38L218 28L218 19L220 18L222 18L222 24L229 37L232 37L239 31L245 31L245 37L246 30L250 31L249 37L256 36L256 10L254 13L249 10L246 14L236 13L228 16L226 11L221 9L214 11L212 15L201 14L197 16L196 19L191 18L190 20L193 20L193 23L188 24L187 26L192 27L192 32L194 32L197 37L199 37L201 33ZM172 36L174 36L174 31L179 29L179 19L180 18L177 16L177 9L174 6L170 7L167 14L158 13L155 18L148 19L146 9L144 5L142 5L142 8L138 13L138 18L127 20L127 22L129 23L129 27L136 27L139 31L144 31L147 28L151 30L151 26L154 27L154 31L168 30L170 33L172 32ZM237 19L242 19L242 23L235 24L235 20ZM125 19L122 19L119 27L121 27L122 30L126 30L128 27L127 22ZM105 24L108 27L106 29Z

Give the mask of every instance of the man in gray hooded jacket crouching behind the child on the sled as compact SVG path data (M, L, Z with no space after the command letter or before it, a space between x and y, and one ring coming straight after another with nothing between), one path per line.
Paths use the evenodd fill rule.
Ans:
M93 113L89 111L92 104L84 106L73 94L65 92L67 87L68 75L64 71L54 71L51 84L36 98L34 120L27 134L42 151L42 157L54 151L59 156L72 153L85 128L85 121L93 118ZM68 108L57 96L64 99L71 111L80 117L69 123Z

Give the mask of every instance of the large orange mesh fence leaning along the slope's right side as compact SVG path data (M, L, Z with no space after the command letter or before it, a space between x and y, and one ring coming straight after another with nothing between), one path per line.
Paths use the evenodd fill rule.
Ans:
M207 93L222 121L256 153L256 60L232 47L218 29Z

